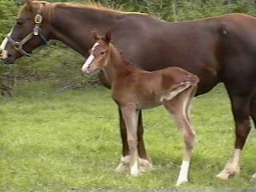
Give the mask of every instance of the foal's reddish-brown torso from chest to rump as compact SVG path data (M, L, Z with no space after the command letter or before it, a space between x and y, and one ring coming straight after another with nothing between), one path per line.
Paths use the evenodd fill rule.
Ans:
M118 103L134 103L137 109L162 105L190 86L197 86L199 79L179 67L168 67L153 72L134 69L129 75L113 82L112 97Z

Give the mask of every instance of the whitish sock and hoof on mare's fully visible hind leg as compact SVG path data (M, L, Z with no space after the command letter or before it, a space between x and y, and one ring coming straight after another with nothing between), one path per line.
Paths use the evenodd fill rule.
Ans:
M230 160L226 163L224 170L217 175L217 178L227 180L230 176L238 174L240 171L239 158L242 150L234 149L233 154L230 157Z

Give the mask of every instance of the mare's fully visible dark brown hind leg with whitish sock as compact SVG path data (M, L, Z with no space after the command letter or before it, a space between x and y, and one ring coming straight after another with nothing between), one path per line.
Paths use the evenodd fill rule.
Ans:
M247 90L233 90L232 87L226 86L232 105L232 112L235 121L235 145L234 152L229 161L226 163L224 170L217 175L218 178L228 179L240 171L239 158L242 148L245 145L246 138L250 133L250 95L253 87L246 87Z

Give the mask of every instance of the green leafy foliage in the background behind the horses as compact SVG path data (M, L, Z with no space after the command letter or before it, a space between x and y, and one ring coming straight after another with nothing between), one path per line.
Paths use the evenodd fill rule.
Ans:
M254 0L49 0L49 2L95 2L117 10L153 14L157 18L170 22L232 12L256 15ZM17 1L0 0L1 39L14 24L18 8ZM74 53L74 50L70 50L61 43L54 42L51 48L42 50L34 58L18 59L14 66L4 66L0 62L0 90L1 85L11 87L15 77L18 77L18 80L21 78L30 80L33 78L50 78L53 83L58 84L60 90L84 86L88 79L81 75L80 65L82 62L81 55ZM12 79L12 81L8 83L6 79ZM11 89L8 88L7 90Z

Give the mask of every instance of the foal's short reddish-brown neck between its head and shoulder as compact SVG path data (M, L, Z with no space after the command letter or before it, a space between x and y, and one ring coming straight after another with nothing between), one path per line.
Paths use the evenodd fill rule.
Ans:
M108 77L111 82L118 81L120 78L124 78L131 74L135 69L126 61L124 55L110 43L110 52L108 55L106 64L106 71L108 71Z

